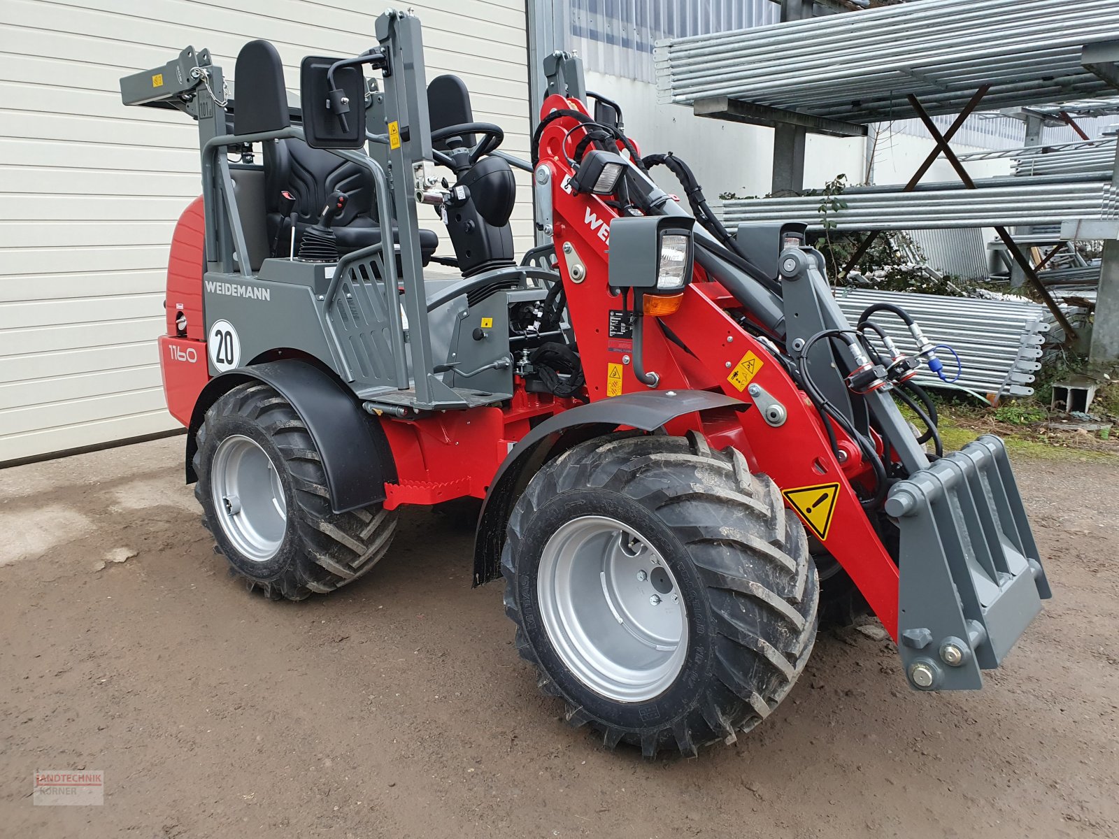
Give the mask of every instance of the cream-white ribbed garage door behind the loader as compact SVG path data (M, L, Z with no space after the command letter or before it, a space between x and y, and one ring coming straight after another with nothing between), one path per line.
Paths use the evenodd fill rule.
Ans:
M504 148L527 157L523 0L412 6L424 25L427 78L461 76L476 119L500 124ZM175 219L200 191L197 132L181 114L124 107L117 79L187 44L209 48L232 75L242 45L265 38L298 85L304 55L374 44L382 8L0 2L0 463L175 426L154 341ZM527 179L518 180L523 249L532 208ZM439 253L452 253L445 230L441 239Z

